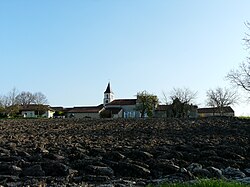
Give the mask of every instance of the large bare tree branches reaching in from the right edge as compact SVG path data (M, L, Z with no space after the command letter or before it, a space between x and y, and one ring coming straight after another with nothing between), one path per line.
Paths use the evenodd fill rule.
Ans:
M246 27L250 30L250 23L245 23ZM246 33L245 38L246 50L250 49L250 34ZM235 86L242 88L243 90L250 92L250 57L247 57L247 61L239 65L238 69L231 70L226 78Z

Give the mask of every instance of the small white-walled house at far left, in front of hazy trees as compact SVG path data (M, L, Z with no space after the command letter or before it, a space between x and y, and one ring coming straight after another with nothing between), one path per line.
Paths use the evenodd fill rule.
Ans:
M49 105L27 105L20 106L19 112L24 118L36 118L36 117L44 117L44 118L52 118L55 110L52 109Z

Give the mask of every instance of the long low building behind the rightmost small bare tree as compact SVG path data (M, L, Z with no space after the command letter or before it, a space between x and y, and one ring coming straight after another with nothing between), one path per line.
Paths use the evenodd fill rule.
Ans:
M198 108L199 117L209 116L234 116L234 110L230 106L226 107L210 107L210 108Z

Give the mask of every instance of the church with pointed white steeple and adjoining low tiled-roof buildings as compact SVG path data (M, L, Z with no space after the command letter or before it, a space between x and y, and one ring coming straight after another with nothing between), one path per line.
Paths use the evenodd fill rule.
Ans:
M103 103L98 106L74 107L67 109L68 118L139 118L136 111L137 99L115 99L108 83L104 91Z

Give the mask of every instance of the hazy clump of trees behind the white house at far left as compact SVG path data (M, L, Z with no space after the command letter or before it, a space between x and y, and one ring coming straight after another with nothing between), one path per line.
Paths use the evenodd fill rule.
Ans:
M47 97L42 92L19 92L13 88L5 95L0 95L0 113L5 116L15 116L20 109L20 106L27 107L31 104L40 105L41 109L44 104L47 104Z

